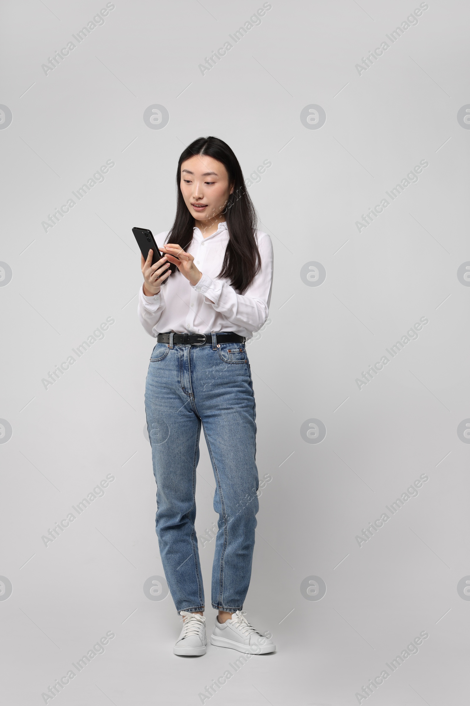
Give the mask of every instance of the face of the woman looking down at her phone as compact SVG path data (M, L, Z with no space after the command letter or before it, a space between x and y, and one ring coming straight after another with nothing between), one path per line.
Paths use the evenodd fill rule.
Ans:
M222 162L207 155L194 155L181 164L180 186L185 204L197 221L220 216L233 192Z

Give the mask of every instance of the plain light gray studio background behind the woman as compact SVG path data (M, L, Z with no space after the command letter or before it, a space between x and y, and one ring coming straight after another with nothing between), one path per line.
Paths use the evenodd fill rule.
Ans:
M154 342L137 320L131 228L170 227L178 156L215 135L246 177L272 162L249 188L275 276L272 323L247 348L259 474L273 479L260 498L245 608L278 652L253 658L210 702L357 703L422 630L419 653L373 702L462 702L470 603L457 583L470 574L470 445L457 425L470 417L470 288L457 268L470 260L470 132L457 111L470 102L469 6L430 0L359 76L355 64L418 2L273 0L202 76L204 57L261 2L115 4L47 76L42 64L104 3L4 5L0 102L13 121L0 130L0 261L13 277L0 287L0 417L13 436L0 444L0 574L13 593L0 600L2 700L43 703L108 630L116 638L56 697L63 706L196 705L239 656L210 645L202 659L173 656L181 626L171 597L143 591L163 570L142 432ZM151 104L169 112L161 130L144 124ZM326 112L318 130L300 121L309 104ZM116 166L104 183L45 233L47 215L106 160ZM359 234L356 220L420 160L429 166L419 181ZM326 268L319 287L300 277L311 261ZM45 390L48 371L109 316L104 340ZM359 390L361 371L423 316L419 339ZM300 435L308 419L326 426L318 445ZM199 535L215 519L202 446ZM42 535L109 473L106 494L45 547ZM355 536L423 473L419 496L359 548ZM213 552L214 543L201 550L206 593ZM312 575L326 582L319 602L300 592ZM210 631L215 612L206 615Z

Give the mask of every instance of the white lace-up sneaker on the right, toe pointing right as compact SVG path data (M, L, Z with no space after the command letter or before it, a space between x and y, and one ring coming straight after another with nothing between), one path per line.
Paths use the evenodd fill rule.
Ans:
M211 635L211 645L216 647L231 647L232 650L245 654L267 654L276 652L273 640L255 630L243 615L245 611L233 613L230 620L219 623L216 618L214 632Z

